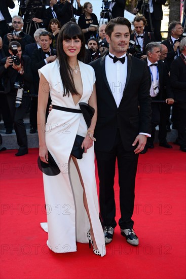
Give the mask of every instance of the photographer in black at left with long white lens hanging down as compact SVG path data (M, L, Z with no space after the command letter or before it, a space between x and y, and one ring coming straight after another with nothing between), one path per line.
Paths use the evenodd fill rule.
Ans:
M5 93L14 121L14 129L17 136L19 150L16 156L28 153L26 128L23 122L29 98L22 94L24 91L32 91L31 59L22 56L21 45L13 41L9 44L11 56L3 58L0 62L0 78L3 78ZM18 89L17 89L18 88Z

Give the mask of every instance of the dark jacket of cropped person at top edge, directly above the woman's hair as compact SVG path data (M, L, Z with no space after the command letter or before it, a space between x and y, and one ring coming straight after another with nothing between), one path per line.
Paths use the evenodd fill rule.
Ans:
M55 5L54 5L55 6ZM56 15L59 20L61 26L63 26L66 22L70 21L72 18L72 5L68 1L64 4L57 4ZM82 14L82 6L78 7L78 9L73 8L73 14L77 16L81 16Z

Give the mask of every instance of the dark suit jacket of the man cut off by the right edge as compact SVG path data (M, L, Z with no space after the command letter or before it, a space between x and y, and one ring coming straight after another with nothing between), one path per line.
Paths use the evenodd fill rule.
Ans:
M181 54L171 64L170 81L175 100L186 102L186 65Z

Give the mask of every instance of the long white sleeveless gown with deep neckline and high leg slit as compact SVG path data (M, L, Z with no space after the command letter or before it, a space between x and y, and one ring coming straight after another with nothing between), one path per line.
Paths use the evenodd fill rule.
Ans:
M79 61L83 94L80 99L88 103L95 83L94 70ZM52 104L60 107L79 109L71 94L63 97L63 85L59 73L58 60L39 70L50 84ZM89 219L83 204L83 188L70 153L77 134L86 136L87 125L82 114L53 109L46 124L46 145L61 172L57 176L43 174L47 223L41 223L48 231L48 247L55 253L77 251L76 241L88 243ZM88 202L95 241L101 256L105 255L105 242L99 220L99 206L95 180L94 147L78 160ZM88 247L87 247L88 249Z

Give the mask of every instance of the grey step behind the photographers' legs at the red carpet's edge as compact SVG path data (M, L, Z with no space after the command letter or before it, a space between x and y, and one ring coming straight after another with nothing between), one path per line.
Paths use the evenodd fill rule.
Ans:
M39 139L38 139L38 132L34 134L30 134L30 124L29 124L29 118L26 117L24 118L24 123L26 126L26 133L27 133L27 138L28 138L28 148L38 148L39 147ZM5 147L6 149L18 149L19 146L17 144L17 138L16 138L16 133L13 130L12 134L5 134L5 127L4 123L0 123L0 133L2 135L3 143L1 148ZM171 132L167 133L167 142L168 143L173 143L175 142L177 137L177 130L171 129ZM155 143L158 143L158 127L155 133Z

